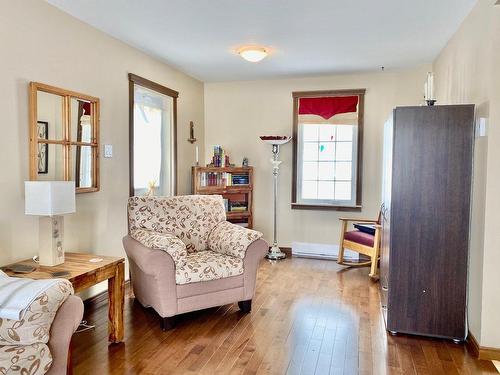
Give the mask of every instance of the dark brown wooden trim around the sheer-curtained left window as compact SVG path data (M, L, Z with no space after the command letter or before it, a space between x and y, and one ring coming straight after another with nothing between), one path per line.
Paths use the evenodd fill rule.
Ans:
M173 99L173 129L172 129L172 146L173 146L173 193L177 195L177 98L179 92L168 87L162 86L156 82L140 77L136 74L129 73L129 196L134 196L134 85L142 86L147 89L156 91L160 94L170 96Z

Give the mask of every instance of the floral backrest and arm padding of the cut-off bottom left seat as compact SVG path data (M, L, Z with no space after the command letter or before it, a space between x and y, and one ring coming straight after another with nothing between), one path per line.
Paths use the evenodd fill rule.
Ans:
M0 345L46 344L57 310L71 294L71 283L61 279L27 307L23 319L0 318Z

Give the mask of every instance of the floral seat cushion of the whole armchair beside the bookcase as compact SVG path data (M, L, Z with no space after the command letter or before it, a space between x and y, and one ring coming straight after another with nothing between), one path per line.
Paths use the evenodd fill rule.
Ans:
M175 282L182 285L241 274L243 259L206 250L187 255L186 264L175 269Z

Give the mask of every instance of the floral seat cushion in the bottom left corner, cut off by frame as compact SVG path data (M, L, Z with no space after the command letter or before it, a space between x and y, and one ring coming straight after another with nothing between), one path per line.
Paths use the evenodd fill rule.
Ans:
M0 374L42 375L51 364L52 355L46 344L0 346Z

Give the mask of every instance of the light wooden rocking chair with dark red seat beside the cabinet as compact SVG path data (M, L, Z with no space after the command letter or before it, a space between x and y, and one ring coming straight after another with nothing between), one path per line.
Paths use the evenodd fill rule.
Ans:
M376 220L359 219L359 218L344 218L339 219L342 221L342 229L340 232L340 245L338 264L349 267L367 267L370 266L369 276L372 278L378 277L378 260L380 257L380 213ZM363 233L359 230L347 231L349 222L364 223L375 225L375 234ZM344 249L356 251L360 254L370 257L366 262L347 262L344 260Z

